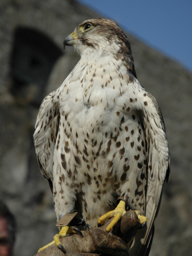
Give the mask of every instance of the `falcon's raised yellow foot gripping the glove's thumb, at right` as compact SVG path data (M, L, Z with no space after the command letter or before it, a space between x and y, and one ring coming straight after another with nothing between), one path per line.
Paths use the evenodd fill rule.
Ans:
M118 223L120 218L126 213L126 203L122 200L120 200L118 206L114 209L111 210L110 212L107 212L106 214L103 214L99 220L98 224L102 225L107 218L114 217L114 219L111 221L111 223L107 226L106 231L110 232L112 228Z

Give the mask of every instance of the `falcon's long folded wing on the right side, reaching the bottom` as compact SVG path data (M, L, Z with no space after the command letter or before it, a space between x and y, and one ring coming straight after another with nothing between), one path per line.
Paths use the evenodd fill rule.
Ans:
M161 202L164 181L169 177L170 152L164 120L155 98L142 90L138 107L147 142L148 179L145 214L148 221L147 228L137 232L130 254L145 256L153 239L151 234Z

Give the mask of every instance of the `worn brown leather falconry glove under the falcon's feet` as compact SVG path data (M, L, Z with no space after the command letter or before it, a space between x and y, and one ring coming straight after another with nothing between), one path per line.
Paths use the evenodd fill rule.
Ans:
M103 253L103 255L128 256L128 249L131 245L132 238L135 236L136 229L140 227L137 215L134 211L128 210L123 215L121 221L115 226L112 233L107 233L105 229L111 220L108 220L105 225L99 228L82 231L83 238L78 236L78 234L61 238L61 243L67 252L66 254L62 253L53 244L35 254L35 256L99 256L98 253Z

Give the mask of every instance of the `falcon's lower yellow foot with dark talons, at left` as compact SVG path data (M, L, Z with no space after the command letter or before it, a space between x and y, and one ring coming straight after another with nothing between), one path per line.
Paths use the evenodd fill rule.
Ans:
M39 250L38 250L38 253L39 251L41 250L44 250L45 248L53 245L53 243L55 243L55 245L57 246L57 248L59 248L63 253L66 253L64 247L61 245L61 241L60 239L62 237L66 237L68 236L69 234L79 234L81 237L82 237L82 233L80 230L78 230L77 228L74 228L73 226L62 226L59 234L56 234L54 237L53 237L53 241L51 243L48 243L48 245L45 245L43 247L41 247Z

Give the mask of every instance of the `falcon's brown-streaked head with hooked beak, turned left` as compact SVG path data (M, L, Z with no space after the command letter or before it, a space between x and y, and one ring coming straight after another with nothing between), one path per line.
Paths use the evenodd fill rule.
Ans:
M110 19L95 18L85 20L65 38L65 46L74 46L77 52L89 57L113 55L128 65L129 71L136 77L130 42L118 24ZM93 56L91 56L93 57Z

